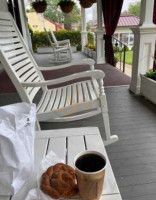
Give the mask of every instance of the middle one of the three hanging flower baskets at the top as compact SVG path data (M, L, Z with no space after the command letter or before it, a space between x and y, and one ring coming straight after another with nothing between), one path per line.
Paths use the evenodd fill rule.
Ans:
M70 13L73 10L74 5L75 2L71 0L61 0L58 3L58 6L60 6L62 12L64 13Z

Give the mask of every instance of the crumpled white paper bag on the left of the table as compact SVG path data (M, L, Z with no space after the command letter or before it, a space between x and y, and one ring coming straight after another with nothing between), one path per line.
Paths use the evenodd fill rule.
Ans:
M0 107L0 195L14 195L34 169L36 105Z

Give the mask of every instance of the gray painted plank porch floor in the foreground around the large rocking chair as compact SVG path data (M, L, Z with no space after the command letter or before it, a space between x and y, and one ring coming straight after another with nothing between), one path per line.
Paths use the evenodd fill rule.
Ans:
M119 142L107 147L123 200L156 199L156 106L129 92L128 86L107 87L112 134ZM19 102L17 94L0 95L0 106ZM42 123L42 129L98 126L101 116L69 123Z

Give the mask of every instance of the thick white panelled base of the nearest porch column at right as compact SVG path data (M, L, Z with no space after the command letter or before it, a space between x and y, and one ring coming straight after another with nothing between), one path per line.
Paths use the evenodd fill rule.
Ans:
M134 33L134 53L130 90L139 94L140 74L145 74L148 69L153 67L156 26L142 25L132 28L132 31Z

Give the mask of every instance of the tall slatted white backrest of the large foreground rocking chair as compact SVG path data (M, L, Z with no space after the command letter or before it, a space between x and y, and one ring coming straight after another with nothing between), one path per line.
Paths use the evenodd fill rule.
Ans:
M0 12L0 61L21 99L31 103L40 87L23 88L21 82L40 82L44 78L8 12Z

